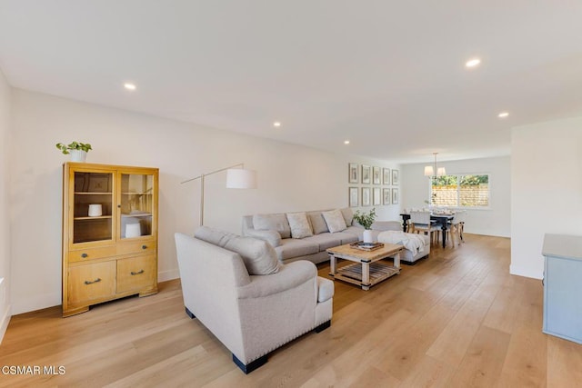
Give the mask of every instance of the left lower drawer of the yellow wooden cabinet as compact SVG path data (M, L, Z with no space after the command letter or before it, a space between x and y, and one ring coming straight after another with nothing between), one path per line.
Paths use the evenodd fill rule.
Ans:
M115 294L115 261L69 268L69 303L85 304Z

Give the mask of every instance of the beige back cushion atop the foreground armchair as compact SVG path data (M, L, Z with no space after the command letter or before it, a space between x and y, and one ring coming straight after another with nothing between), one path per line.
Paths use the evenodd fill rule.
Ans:
M194 234L196 238L236 252L243 259L248 274L276 274L279 261L275 248L264 240L241 237L224 231L201 226Z

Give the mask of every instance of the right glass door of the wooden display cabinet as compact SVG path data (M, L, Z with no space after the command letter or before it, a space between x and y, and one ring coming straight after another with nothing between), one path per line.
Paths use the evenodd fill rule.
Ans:
M152 235L154 175L121 174L121 238Z

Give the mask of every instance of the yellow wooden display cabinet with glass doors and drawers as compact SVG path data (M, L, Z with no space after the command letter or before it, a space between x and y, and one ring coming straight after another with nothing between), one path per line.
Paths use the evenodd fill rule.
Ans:
M156 168L63 165L63 316L157 293L157 202Z

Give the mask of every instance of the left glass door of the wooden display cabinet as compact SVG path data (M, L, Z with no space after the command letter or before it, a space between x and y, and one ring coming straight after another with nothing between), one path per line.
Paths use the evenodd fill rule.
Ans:
M75 172L73 243L113 239L113 174Z

